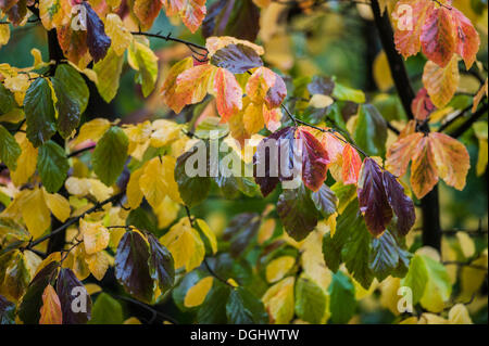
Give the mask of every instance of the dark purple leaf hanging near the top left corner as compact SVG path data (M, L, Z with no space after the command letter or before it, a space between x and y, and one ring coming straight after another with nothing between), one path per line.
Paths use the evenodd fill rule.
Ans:
M105 35L103 22L99 18L97 13L87 1L83 2L87 10L87 46L93 62L102 60L109 47L111 47L111 39Z

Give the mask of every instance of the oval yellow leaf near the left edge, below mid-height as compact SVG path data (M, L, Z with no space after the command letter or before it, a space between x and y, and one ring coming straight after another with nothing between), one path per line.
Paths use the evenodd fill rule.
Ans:
M41 236L51 226L51 214L46 205L45 194L39 188L26 193L22 200L22 217L34 238Z

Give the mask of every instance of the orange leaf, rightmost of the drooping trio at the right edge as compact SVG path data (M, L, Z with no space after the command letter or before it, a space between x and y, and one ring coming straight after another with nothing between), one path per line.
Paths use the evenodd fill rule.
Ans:
M471 157L464 144L450 136L429 133L438 176L457 190L465 187L465 178L471 168Z

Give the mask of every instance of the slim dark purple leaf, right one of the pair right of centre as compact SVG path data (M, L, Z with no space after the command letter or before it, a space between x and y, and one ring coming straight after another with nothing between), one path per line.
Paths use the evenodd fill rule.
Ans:
M398 217L398 231L405 235L416 220L413 201L404 194L404 188L389 171L384 171L383 181L387 200Z

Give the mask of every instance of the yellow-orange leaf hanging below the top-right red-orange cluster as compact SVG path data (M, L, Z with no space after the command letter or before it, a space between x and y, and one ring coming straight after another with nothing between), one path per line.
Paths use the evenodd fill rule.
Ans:
M459 56L453 55L446 67L434 62L426 62L423 72L423 85L428 91L432 104L438 108L444 107L455 94L459 86Z

